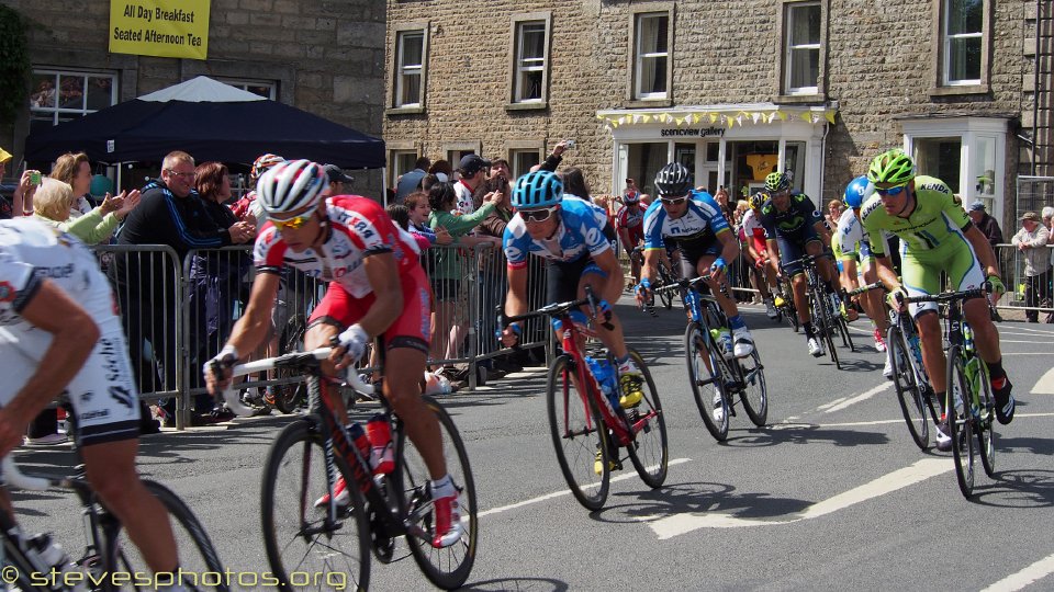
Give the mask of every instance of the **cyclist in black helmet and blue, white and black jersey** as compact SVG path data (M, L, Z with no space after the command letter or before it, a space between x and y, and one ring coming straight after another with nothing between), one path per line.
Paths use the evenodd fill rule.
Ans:
M681 252L681 277L709 275L707 285L728 317L731 334L722 335L725 356L742 357L754 351L754 340L739 315L736 300L720 291L728 273L728 262L739 257L739 239L728 227L717 202L709 193L692 191L692 173L679 162L671 162L655 175L659 200L644 212L644 266L638 301L651 297L651 280L665 246Z

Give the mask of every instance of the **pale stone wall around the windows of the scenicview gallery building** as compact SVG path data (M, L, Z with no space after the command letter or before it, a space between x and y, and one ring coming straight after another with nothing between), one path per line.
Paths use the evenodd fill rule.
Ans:
M827 136L825 201L840 196L841 187L862 174L878 151L900 145L900 117L1008 117L1014 130L1022 111L1031 111L1023 89L1031 56L1023 48L1025 38L1034 34L1030 29L1034 0L989 0L994 31L989 88L952 95L931 93L937 1L822 0L828 20L821 100L837 101L839 106ZM388 0L389 106L395 26L427 21L430 31L425 112L388 115L384 137L414 143L433 159L441 158L444 145L453 141L480 143L483 153L494 157L506 156L512 141L545 140L551 147L560 138L574 137L579 149L568 153L564 164L581 167L592 186L609 187L612 137L596 119L596 111L630 106L631 13L672 4L673 105L781 103L783 2L495 0L481 9L457 0ZM548 109L506 110L513 67L509 19L536 11L552 14ZM1010 162L1003 194L1012 195L1018 145L1016 134L1008 137Z

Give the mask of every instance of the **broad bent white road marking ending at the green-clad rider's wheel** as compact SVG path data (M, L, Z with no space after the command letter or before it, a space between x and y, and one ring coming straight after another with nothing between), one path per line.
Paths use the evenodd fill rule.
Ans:
M742 528L749 526L775 526L792 524L804 520L825 516L851 505L885 496L898 489L937 477L955 468L949 458L923 458L909 467L884 475L868 483L853 488L832 498L814 503L803 512L786 514L785 517L740 519L729 514L685 513L673 516L644 517L648 526L660 540L691 533L699 528Z

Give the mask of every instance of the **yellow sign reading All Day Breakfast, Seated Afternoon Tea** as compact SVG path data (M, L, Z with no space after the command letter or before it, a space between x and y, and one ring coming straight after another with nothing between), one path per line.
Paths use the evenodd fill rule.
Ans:
M211 0L110 0L110 53L209 57Z

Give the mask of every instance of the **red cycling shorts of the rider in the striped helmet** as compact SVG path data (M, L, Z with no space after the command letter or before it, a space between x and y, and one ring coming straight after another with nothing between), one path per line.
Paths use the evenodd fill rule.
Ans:
M403 310L384 331L384 343L389 350L411 348L427 354L431 292L428 289L425 270L419 265L413 267L400 281L403 288ZM326 323L343 331L365 317L375 300L373 293L356 298L340 284L330 282L326 295L312 311L307 327Z

